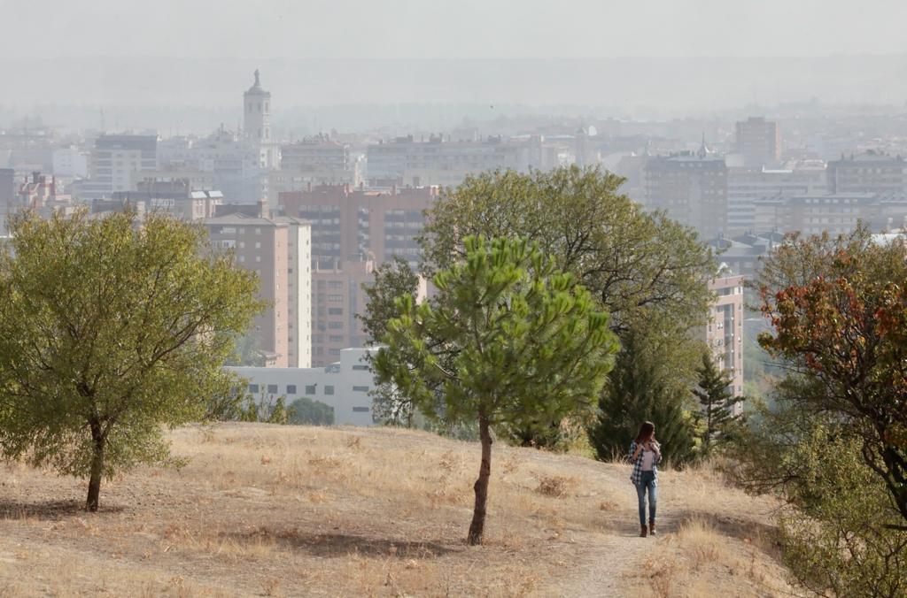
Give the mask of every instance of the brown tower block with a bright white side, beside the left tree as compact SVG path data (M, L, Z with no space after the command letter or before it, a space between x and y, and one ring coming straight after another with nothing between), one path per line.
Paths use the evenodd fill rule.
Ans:
M235 252L237 265L258 274L268 308L252 334L268 365L311 365L311 241L298 218L230 214L205 220L212 246Z

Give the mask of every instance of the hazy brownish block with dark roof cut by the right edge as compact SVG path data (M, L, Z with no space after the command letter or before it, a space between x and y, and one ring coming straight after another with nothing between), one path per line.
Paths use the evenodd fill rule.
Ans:
M828 162L831 193L905 193L907 161L870 149Z

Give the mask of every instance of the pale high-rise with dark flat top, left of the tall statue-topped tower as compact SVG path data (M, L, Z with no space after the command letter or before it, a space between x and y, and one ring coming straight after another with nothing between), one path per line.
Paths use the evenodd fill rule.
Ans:
M83 198L110 198L114 191L132 191L134 172L157 169L156 135L102 135L94 141Z

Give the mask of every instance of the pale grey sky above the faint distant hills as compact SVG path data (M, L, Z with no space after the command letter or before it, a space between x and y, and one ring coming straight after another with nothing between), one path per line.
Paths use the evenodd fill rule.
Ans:
M907 53L905 0L0 0L0 14L5 59Z

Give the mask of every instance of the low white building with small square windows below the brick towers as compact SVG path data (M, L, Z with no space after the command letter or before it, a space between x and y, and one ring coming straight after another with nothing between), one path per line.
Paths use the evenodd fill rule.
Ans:
M321 368L229 367L249 382L249 392L274 401L285 396L289 405L300 397L320 400L334 409L338 426L372 426L375 380L366 353L375 349L344 349L340 361Z

